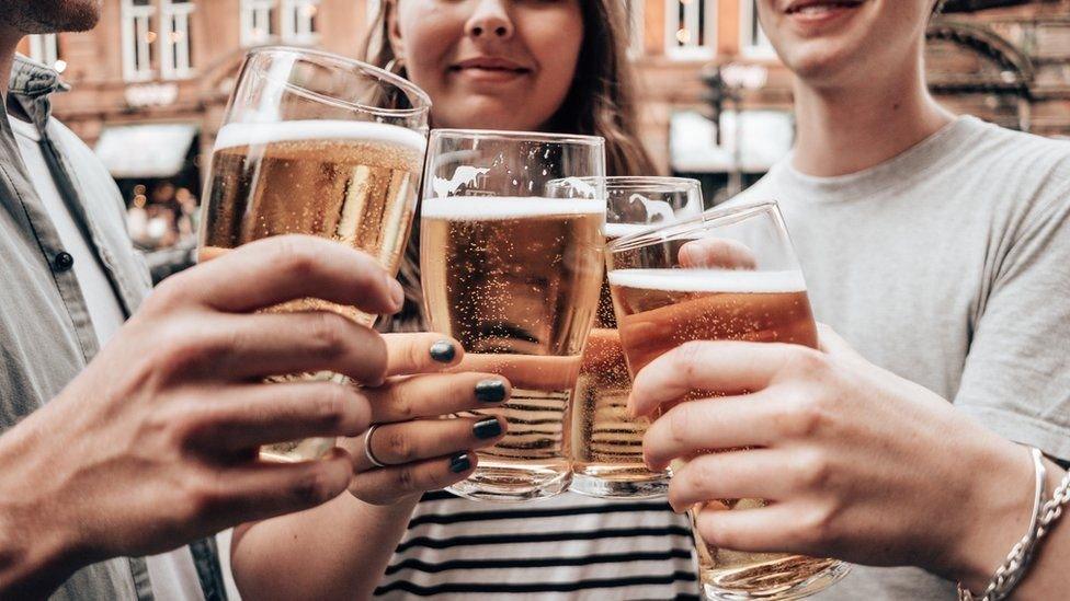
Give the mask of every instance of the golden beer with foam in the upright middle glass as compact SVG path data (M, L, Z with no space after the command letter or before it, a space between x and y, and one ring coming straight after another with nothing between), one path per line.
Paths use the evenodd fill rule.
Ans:
M475 369L513 383L503 407L471 414L503 415L509 429L479 451L476 474L453 487L458 494L548 496L568 485L565 420L602 281L604 211L601 200L424 200L431 324L460 340Z

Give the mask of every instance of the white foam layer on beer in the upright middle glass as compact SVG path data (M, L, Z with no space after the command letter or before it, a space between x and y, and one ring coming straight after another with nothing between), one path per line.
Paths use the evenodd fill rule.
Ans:
M601 215L605 203L593 198L546 198L542 196L448 196L424 198L421 216L428 219L491 221L525 217Z

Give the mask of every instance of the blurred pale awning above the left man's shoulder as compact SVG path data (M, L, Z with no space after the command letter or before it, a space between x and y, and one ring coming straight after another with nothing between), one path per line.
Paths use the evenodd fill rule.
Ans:
M197 135L192 124L107 127L96 141L96 155L112 177L170 177L182 171Z

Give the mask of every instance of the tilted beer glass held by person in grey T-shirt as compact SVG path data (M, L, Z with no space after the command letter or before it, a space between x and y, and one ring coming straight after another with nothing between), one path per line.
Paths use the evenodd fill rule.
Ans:
M606 263L633 374L690 340L817 347L802 271L775 203L709 211L622 238L607 249ZM724 393L695 391L679 402ZM681 467L681 461L673 466ZM732 511L764 505L761 499L712 499L692 508L692 525L706 507ZM835 559L716 548L703 542L697 529L694 534L709 599L799 599L828 588L849 569Z

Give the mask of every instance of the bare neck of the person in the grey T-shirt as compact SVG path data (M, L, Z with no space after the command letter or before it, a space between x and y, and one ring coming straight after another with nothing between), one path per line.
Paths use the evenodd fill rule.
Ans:
M878 165L954 120L929 94L921 60L883 82L795 85L798 137L793 166L832 177Z

